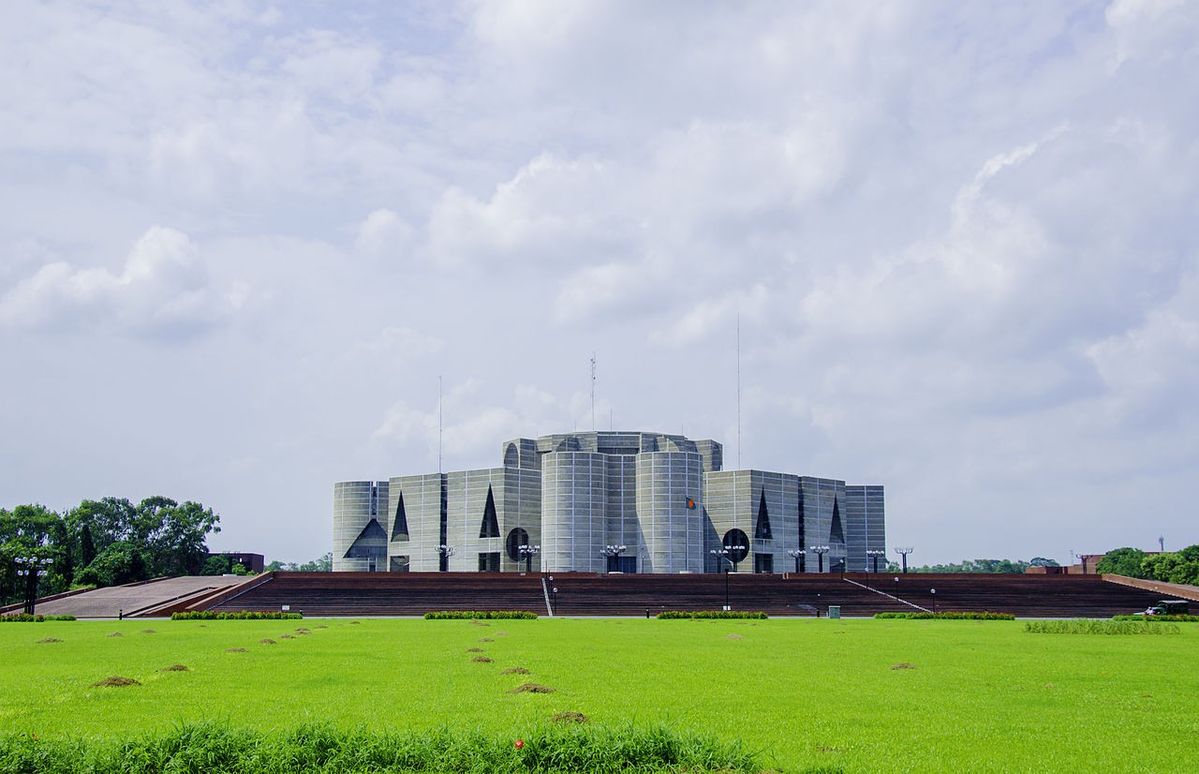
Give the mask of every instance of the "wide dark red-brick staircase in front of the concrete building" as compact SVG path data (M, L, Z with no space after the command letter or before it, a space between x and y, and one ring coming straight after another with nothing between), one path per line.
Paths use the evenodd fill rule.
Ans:
M843 616L989 610L1022 617L1108 617L1162 599L1158 592L1105 582L1098 575L269 573L254 583L173 610L287 606L308 616L417 616L432 610L546 615L543 580L554 613L562 616L719 610L727 599L733 610L772 616L823 616L836 605Z

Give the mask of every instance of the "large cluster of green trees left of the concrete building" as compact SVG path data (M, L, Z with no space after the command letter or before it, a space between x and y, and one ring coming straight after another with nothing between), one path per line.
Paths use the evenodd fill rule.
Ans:
M79 585L198 573L207 556L207 536L221 531L219 522L211 508L162 496L138 504L116 497L85 500L64 514L32 504L0 508L0 604L24 598L18 556L52 560L38 585L41 595Z

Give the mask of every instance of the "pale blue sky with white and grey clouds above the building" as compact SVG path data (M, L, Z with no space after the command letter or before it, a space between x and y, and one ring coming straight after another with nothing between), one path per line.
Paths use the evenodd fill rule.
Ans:
M920 562L1199 542L1197 4L13 0L0 212L4 506L311 558L595 352Z

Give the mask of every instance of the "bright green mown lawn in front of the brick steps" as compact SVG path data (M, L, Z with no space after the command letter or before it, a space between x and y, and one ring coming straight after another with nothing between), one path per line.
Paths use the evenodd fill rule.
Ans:
M589 726L741 739L784 772L1195 772L1199 624L1180 627L1146 637L971 621L7 624L0 730L110 738L197 720L329 721L517 738L578 712ZM175 664L188 671L162 671ZM513 666L530 673L502 673ZM92 687L110 676L141 684ZM554 691L511 693L526 682Z

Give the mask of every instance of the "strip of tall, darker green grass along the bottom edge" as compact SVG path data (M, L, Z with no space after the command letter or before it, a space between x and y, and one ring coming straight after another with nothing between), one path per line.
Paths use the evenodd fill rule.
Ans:
M552 728L516 739L481 733L341 731L271 733L185 725L135 739L40 740L0 736L0 772L234 774L259 772L754 772L739 742L662 727Z

